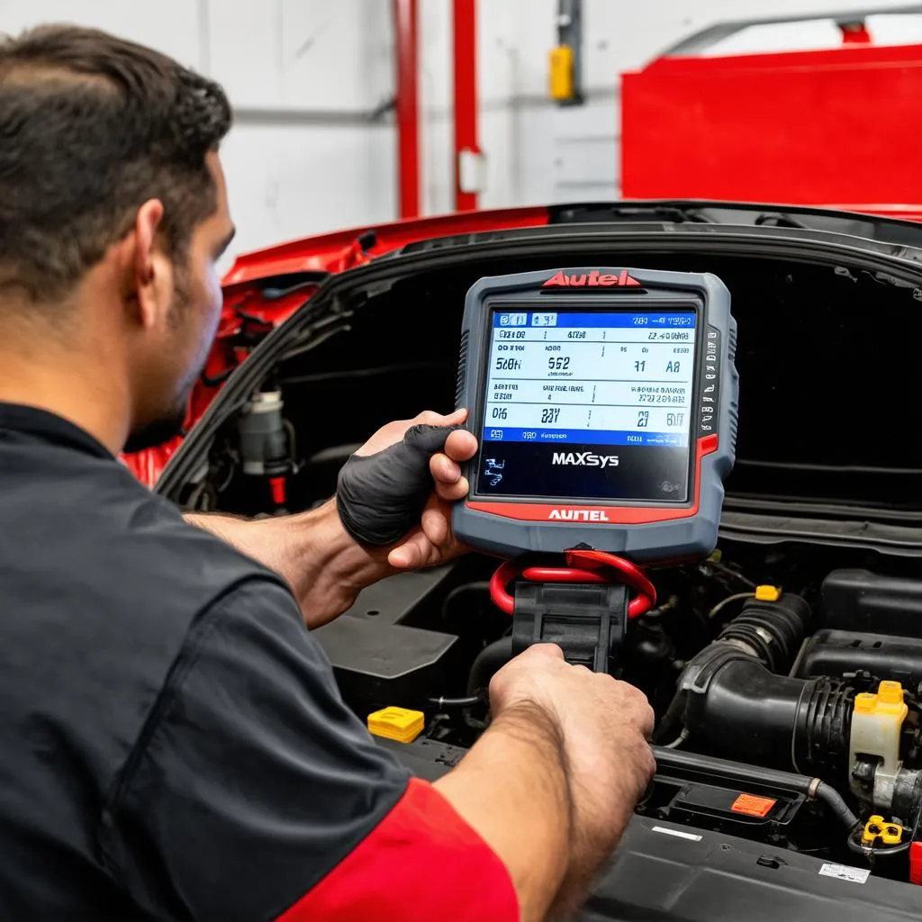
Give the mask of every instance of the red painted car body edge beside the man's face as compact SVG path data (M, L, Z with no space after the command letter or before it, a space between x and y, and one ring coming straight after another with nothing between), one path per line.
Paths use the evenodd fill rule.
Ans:
M224 306L218 334L208 355L205 372L189 400L185 431L201 419L224 382L247 358L255 345L274 327L313 296L311 288L298 288L274 299L264 297L260 282L300 273L339 273L364 266L377 256L423 240L456 234L508 231L543 227L550 214L545 207L503 208L395 221L377 227L336 231L308 237L238 256L222 281ZM284 289L281 281L278 288ZM124 464L142 483L153 487L183 436L171 442L123 455Z

